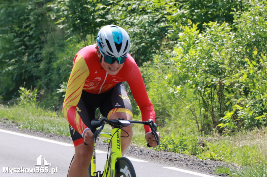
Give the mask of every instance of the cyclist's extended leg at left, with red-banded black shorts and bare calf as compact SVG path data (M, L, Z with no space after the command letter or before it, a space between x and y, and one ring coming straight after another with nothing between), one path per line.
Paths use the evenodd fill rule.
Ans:
M89 100L97 100L95 98L97 95L89 94L85 91L82 92L81 99L77 105L77 113L80 115L84 124L90 128L91 120L95 119L95 109L97 103L89 103ZM88 146L84 145L84 138L75 129L70 126L70 135L73 140L75 154L74 159L69 168L69 177L71 176L87 176L88 167L90 165L94 142Z

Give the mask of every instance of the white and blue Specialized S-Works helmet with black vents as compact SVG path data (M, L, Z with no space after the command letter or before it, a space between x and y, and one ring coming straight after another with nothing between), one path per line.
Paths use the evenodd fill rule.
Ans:
M124 57L130 50L130 37L121 27L107 25L97 34L97 45L102 53L111 57Z

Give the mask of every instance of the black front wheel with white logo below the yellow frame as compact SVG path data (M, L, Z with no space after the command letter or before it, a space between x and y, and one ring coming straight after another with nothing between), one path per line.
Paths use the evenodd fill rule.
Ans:
M126 157L121 157L115 164L115 177L136 177L132 162Z

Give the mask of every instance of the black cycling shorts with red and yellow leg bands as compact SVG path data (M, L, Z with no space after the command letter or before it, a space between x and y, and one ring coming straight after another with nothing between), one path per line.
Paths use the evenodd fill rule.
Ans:
M102 94L91 94L83 90L76 110L88 128L91 128L91 120L95 119L97 108L107 119L114 112L125 112L132 116L132 106L124 83L117 83L111 90ZM84 140L81 134L70 125L69 129L74 146L83 144Z

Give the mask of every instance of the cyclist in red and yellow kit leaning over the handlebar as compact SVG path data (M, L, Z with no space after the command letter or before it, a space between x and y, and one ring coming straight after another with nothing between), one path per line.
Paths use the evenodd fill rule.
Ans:
M132 120L132 107L124 81L130 86L140 108L142 120L155 121L154 108L148 98L140 70L128 54L128 33L119 26L107 25L100 29L96 40L97 44L84 47L74 57L62 109L69 123L75 149L69 176L87 176L94 147L90 122L95 119L97 108L107 119ZM123 129L122 154L131 143L132 126ZM156 146L149 126L145 125L144 129L146 141L151 146ZM159 135L159 132L157 133Z

